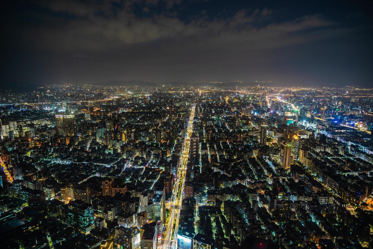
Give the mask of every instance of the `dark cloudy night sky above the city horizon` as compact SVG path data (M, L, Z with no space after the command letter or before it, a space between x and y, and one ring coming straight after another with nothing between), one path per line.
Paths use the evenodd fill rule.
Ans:
M1 84L371 86L371 1L9 1Z

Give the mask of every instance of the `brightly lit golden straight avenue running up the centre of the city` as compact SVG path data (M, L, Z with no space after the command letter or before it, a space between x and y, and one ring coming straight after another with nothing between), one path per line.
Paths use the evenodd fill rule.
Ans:
M184 194L185 172L186 165L189 158L190 136L193 131L193 118L194 118L195 105L192 106L191 114L189 117L188 128L186 130L186 137L184 141L183 150L180 157L180 164L178 176L173 189L172 201L166 205L169 209L169 217L166 220L166 230L163 236L163 249L176 249L177 247L177 234L179 226L180 208ZM174 226L175 222L175 226ZM162 247L162 245L161 245Z

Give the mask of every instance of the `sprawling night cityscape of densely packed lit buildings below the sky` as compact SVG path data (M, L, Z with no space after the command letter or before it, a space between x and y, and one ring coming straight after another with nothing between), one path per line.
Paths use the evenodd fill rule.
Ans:
M373 91L4 91L2 248L373 248Z

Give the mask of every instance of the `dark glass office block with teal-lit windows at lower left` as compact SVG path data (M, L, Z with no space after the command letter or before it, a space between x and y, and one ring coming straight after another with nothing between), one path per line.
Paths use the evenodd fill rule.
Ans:
M84 234L90 233L94 228L93 206L81 200L70 201L66 205L66 217L69 224Z

